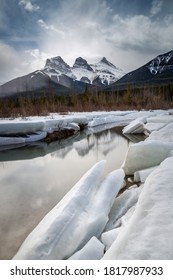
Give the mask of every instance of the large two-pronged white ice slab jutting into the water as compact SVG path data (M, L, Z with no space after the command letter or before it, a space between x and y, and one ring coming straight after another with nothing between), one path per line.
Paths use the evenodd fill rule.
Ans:
M114 197L124 180L122 169L100 183L105 161L92 167L26 238L14 259L66 259L99 237Z

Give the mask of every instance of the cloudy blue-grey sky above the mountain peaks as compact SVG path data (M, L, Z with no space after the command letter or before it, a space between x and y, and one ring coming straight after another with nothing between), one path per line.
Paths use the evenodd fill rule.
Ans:
M125 72L173 49L172 0L0 0L0 83L60 55Z

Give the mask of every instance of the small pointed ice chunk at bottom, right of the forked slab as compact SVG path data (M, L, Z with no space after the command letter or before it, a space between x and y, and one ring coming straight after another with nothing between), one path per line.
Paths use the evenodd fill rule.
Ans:
M69 260L100 260L104 255L104 245L95 236Z

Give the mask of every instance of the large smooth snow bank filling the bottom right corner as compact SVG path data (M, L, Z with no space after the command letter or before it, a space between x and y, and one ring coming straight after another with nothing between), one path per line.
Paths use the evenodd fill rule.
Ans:
M173 259L173 158L147 178L135 211L103 259Z

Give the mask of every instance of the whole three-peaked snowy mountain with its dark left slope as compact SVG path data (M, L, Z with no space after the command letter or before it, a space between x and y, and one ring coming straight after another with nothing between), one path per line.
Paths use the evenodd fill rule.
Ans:
M60 56L48 58L43 69L23 77L13 79L0 86L0 96L8 97L17 94L42 95L54 92L57 95L84 93L88 89L101 89L124 75L106 58L96 64L78 57L73 66L69 66Z

